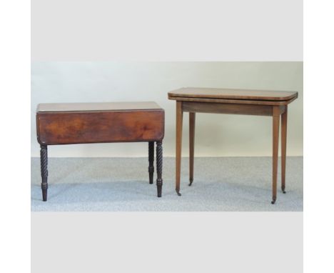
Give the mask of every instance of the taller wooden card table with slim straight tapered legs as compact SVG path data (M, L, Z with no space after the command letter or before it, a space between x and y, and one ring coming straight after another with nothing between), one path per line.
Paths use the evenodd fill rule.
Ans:
M277 197L278 139L281 128L281 189L285 194L286 134L288 104L298 97L295 91L265 91L247 89L181 88L168 92L168 99L176 101L176 193L180 193L181 144L183 112L189 112L189 186L193 183L193 154L195 118L197 113L246 114L272 116L273 119L273 194Z

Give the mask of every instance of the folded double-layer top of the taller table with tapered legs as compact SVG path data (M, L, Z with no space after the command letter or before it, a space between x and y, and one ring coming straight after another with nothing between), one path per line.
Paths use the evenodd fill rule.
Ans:
M235 99L256 101L288 101L298 96L296 91L270 91L252 89L216 89L186 87L168 92L169 99Z

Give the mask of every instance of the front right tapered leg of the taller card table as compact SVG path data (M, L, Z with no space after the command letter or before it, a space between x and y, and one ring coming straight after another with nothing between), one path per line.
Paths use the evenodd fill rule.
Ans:
M277 169L278 169L278 139L280 131L280 112L278 106L273 106L273 201L277 196Z

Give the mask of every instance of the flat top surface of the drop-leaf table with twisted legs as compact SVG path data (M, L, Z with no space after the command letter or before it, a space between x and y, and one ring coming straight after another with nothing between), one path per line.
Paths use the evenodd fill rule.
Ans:
M154 101L39 104L38 112L162 109Z

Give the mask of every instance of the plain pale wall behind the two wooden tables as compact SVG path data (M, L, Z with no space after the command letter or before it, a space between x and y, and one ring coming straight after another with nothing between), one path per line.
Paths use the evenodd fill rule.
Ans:
M165 109L163 154L175 157L175 101L186 86L298 91L289 105L288 156L303 155L303 62L32 62L31 156L39 157L36 106L46 102L156 101ZM271 155L271 118L196 115L196 157ZM49 147L49 157L146 157L146 143ZM188 156L188 114L183 117Z

